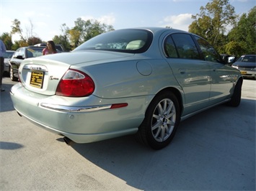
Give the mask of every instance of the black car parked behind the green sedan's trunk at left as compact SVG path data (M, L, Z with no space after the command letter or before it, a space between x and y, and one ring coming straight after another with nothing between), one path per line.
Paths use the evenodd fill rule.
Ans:
M42 55L43 47L20 47L18 48L14 54L12 55L12 58L9 60L9 72L10 72L10 78L12 81L17 81L19 79L19 65L22 62L22 60L25 60L27 58L31 57L38 57Z

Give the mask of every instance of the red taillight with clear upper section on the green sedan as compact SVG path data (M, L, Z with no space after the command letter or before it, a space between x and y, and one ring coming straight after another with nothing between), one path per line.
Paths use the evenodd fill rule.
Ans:
M94 92L94 82L89 75L79 70L68 70L58 83L56 95L81 97Z

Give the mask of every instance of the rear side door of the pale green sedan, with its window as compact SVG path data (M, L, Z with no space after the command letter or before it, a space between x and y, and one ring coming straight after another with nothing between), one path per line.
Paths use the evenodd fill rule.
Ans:
M164 40L164 52L178 83L185 93L184 113L208 106L211 90L211 67L201 59L190 34L170 34Z

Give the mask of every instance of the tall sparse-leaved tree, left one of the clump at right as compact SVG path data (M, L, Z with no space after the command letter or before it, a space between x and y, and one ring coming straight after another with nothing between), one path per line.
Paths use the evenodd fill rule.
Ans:
M200 35L208 40L217 50L221 50L224 44L224 34L226 27L234 25L237 15L234 6L229 4L229 0L212 0L206 7L200 7L200 14L192 16L195 19L189 26L189 32ZM219 43L221 42L221 46Z

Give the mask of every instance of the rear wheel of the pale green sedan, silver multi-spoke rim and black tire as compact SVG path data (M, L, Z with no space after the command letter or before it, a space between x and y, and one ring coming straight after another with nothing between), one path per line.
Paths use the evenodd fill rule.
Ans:
M179 123L179 102L173 93L164 91L149 104L137 138L152 149L162 149L172 141Z

